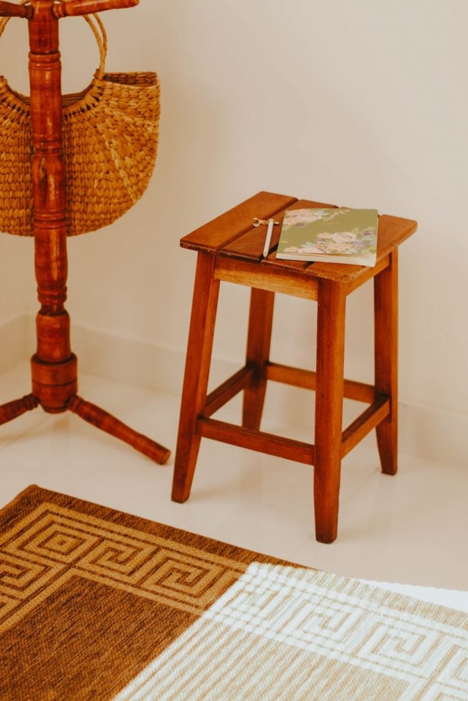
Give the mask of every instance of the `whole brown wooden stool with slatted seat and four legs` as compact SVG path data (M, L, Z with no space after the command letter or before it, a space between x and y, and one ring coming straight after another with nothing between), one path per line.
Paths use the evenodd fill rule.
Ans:
M321 543L332 543L337 536L341 460L373 428L377 431L382 472L396 473L397 254L399 244L417 226L410 219L382 215L374 268L277 260L274 250L281 226L274 227L269 255L263 258L266 226L254 228L254 217L274 217L281 222L286 209L333 206L261 192L181 241L182 247L198 251L198 259L173 501L183 502L189 497L201 437L314 465L316 539ZM375 293L373 386L343 377L346 298L371 278ZM251 288L246 364L207 396L220 280ZM275 292L318 302L316 372L270 362ZM315 390L314 444L259 430L267 380ZM242 426L210 418L241 390ZM344 397L370 406L343 431Z

